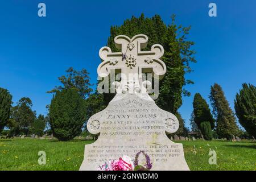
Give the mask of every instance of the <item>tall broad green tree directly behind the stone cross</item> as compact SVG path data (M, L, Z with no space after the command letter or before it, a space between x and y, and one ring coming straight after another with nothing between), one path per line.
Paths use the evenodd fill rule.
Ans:
M142 14L139 18L134 16L125 20L121 26L110 28L108 46L113 52L118 51L115 47L114 38L117 35L127 35L132 38L137 34L148 36L145 51L151 49L153 44L161 44L164 47L162 60L166 64L167 72L163 80L159 82L159 97L156 104L177 115L177 110L182 105L182 96L190 96L188 90L183 89L187 84L193 84L191 80L185 80L185 74L192 72L190 63L196 63L191 50L193 42L187 40L187 35L191 27L182 27L175 24L175 16L172 16L170 25L164 24L159 15L152 18L144 18ZM109 86L110 88L110 86ZM105 105L112 100L115 94L104 94ZM180 125L180 127L184 126Z

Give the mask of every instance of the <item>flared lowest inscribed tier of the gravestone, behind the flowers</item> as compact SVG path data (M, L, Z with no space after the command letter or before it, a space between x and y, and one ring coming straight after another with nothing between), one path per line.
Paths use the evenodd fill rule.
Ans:
M164 143L140 143L139 140L118 143L117 140L101 140L87 144L80 171L96 171L105 162L117 160L123 155L134 159L139 151L144 151L150 156L150 171L188 171L183 145L167 139ZM143 156L140 156L139 164L143 165L145 162Z

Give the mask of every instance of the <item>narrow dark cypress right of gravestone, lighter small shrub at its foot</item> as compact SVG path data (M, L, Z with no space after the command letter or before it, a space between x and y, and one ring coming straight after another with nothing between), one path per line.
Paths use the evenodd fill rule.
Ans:
M199 127L204 138L212 140L212 129L214 129L214 119L210 113L209 105L200 95L196 93L193 100L193 114L195 115L194 121Z

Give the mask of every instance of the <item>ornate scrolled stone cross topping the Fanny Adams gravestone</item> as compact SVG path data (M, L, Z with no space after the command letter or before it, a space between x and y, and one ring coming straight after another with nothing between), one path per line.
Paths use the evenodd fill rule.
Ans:
M98 66L98 75L107 77L111 69L118 70L122 74L121 84L133 82L140 86L144 72L162 78L166 73L166 65L160 60L164 49L155 44L151 51L141 51L147 46L147 41L147 36L143 34L135 35L131 39L126 35L116 36L115 47L121 49L121 52L112 52L109 47L102 47L99 52L102 63Z

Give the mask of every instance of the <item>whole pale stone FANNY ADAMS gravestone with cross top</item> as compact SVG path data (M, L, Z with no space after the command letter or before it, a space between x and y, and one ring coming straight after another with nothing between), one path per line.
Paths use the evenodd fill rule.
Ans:
M113 82L117 94L106 109L89 118L87 129L100 133L96 142L85 145L84 160L80 170L97 170L98 166L123 155L131 159L144 151L152 162L151 170L189 170L185 162L183 145L168 139L167 133L175 133L179 121L174 114L160 109L147 93L149 81L143 81L141 73L151 72L162 78L166 65L160 60L163 47L155 44L151 51L141 51L147 46L146 35L114 38L121 52L109 47L100 49L102 63L97 72L108 78L113 70L121 71L121 82Z

